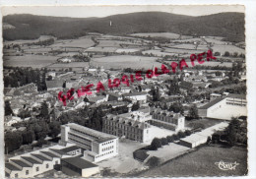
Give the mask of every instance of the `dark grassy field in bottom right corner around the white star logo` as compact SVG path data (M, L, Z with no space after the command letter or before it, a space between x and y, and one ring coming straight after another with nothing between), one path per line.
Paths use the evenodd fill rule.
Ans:
M221 170L216 162L235 162L239 163L235 170ZM247 149L240 147L202 147L157 168L140 173L140 177L154 176L241 176L247 173Z

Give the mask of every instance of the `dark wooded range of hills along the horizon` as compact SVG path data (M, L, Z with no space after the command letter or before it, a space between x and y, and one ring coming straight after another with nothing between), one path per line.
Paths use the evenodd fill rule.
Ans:
M41 34L74 38L89 31L108 34L175 32L188 35L217 35L235 42L244 41L245 38L242 13L191 17L162 12L141 12L105 18L63 18L23 14L5 16L3 22L13 27L3 30L3 37L7 40L34 39Z

